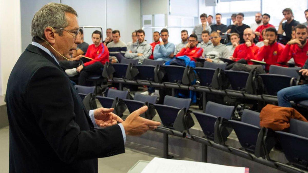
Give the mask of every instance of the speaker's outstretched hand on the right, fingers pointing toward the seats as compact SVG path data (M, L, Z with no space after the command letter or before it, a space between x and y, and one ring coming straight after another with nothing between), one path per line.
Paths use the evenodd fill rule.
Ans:
M143 114L148 110L147 106L143 106L136 111L132 112L122 123L125 134L131 136L139 136L144 134L148 130L154 130L157 126L160 125L160 122L152 121L140 117L140 114Z

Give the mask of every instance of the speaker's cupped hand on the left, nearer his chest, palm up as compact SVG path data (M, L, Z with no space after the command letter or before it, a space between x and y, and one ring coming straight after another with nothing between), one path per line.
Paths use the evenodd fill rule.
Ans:
M100 107L94 110L94 118L95 123L99 127L108 127L117 124L117 122L122 123L123 119L121 119L118 115L112 113L113 108L103 108Z

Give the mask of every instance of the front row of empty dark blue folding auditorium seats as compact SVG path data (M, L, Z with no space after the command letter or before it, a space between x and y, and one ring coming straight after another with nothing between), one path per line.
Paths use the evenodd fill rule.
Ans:
M80 88L84 89L87 87L77 86L79 93L83 92L83 89ZM92 87L93 90L94 88ZM270 129L260 127L259 113L251 110L245 109L243 111L242 121L240 122L231 119L234 111L233 106L208 102L205 113L201 113L189 111L191 99L165 96L164 104L160 105L155 104L157 96L136 94L134 100L128 100L126 99L127 95L128 91L109 89L107 97L97 96L96 98L103 107L107 108L114 107L116 105L113 104L114 100L119 101L118 98L120 98L131 113L143 105L148 105L149 110L151 110L150 107L155 108L164 126L158 128L157 131L164 133L164 138L167 139L167 147L164 147L165 158L169 158L168 135L176 135L202 143L203 150L205 151L210 146L282 171L307 171L308 123L306 122L291 119L288 132L274 132ZM114 108L117 109L117 107ZM154 115L151 112L145 114L141 116L152 119L155 111ZM191 114L197 118L205 136L201 137L189 133L189 129L195 124ZM235 131L242 148L234 148L225 144L232 130ZM278 142L282 145L282 150L290 163L283 164L270 159L269 153ZM204 157L202 160L206 162L206 152L203 153Z

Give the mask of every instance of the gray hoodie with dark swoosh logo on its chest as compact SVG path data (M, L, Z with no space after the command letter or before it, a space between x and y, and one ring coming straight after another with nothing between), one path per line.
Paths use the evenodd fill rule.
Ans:
M224 63L219 58L228 58L229 50L226 48L226 45L219 44L218 46L214 46L213 44L206 47L202 53L202 56L205 58L210 58L213 62L216 63Z

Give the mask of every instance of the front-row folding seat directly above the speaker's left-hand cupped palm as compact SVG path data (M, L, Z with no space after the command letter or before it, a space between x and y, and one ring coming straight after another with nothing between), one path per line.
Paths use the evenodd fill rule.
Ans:
M124 100L127 98L127 95L128 91L109 89L107 92L107 97L97 96L96 98L103 107L111 108L115 98Z

